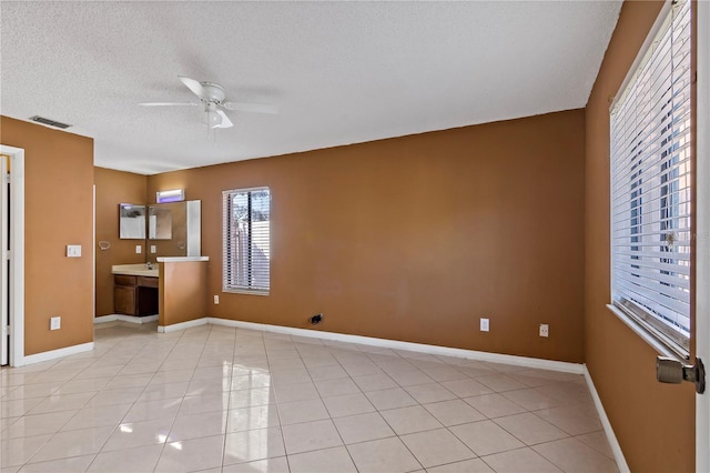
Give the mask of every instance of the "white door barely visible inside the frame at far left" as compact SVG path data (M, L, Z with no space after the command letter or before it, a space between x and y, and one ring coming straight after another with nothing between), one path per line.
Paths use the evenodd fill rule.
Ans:
M9 157L0 154L0 321L2 338L0 339L0 364L10 360L10 179L8 175Z

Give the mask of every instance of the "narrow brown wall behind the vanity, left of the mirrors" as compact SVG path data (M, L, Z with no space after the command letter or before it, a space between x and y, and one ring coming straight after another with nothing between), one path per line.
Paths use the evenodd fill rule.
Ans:
M145 262L144 240L119 239L119 204L145 203L148 178L131 172L94 168L97 185L97 316L115 313L113 311L113 274L114 264L133 264ZM100 241L108 241L111 248L102 251ZM143 248L141 254L135 253L135 245Z

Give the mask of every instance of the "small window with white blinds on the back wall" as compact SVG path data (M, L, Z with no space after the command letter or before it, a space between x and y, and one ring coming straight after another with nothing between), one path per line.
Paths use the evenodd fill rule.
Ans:
M223 290L267 295L271 261L268 188L224 191Z

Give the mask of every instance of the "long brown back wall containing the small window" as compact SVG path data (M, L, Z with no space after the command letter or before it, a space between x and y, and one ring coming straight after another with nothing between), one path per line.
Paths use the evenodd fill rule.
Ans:
M212 316L323 312L325 331L581 362L584 130L574 110L158 174L148 194L202 200ZM222 293L222 191L257 185L271 294Z

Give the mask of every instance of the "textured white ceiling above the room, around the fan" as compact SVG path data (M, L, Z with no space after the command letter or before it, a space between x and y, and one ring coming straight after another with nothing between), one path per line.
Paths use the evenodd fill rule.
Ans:
M153 174L585 107L621 1L0 2L0 112ZM179 80L223 84L207 140Z

